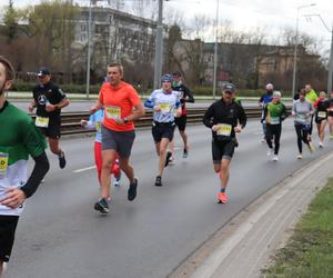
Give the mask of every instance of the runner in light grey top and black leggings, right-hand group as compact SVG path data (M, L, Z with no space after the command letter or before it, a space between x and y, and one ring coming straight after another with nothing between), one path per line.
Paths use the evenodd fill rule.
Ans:
M305 89L300 92L300 99L293 105L292 115L295 117L295 131L297 135L299 156L297 159L302 159L302 141L306 143L311 152L314 151L314 147L310 139L311 117L314 113L313 106L305 100Z

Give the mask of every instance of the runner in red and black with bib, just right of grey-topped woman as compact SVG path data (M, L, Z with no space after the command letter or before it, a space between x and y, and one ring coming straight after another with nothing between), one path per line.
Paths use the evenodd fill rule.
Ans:
M315 108L315 123L317 129L317 136L320 139L320 148L323 148L324 137L325 137L325 127L327 122L327 109L329 101L326 99L326 93L324 91L320 92L319 99L314 102L313 107Z

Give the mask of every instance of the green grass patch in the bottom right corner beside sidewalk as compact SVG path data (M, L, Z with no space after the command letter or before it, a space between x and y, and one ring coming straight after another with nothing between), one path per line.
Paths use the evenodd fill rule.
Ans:
M309 207L264 277L333 277L333 179Z

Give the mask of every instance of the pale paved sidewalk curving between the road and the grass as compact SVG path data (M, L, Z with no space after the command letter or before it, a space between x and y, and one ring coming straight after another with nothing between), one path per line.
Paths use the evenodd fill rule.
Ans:
M233 218L170 277L260 277L333 170L333 152L309 163Z

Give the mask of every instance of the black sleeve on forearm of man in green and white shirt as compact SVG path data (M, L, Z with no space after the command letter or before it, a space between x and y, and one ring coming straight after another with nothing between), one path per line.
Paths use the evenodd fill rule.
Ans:
M34 168L31 172L27 183L20 189L24 192L26 197L31 197L40 185L41 180L50 169L50 163L47 153L43 151L40 156L33 157Z

